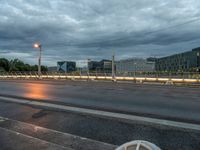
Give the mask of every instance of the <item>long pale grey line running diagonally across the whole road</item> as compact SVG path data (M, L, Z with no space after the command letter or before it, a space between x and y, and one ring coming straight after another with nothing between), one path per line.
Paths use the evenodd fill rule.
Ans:
M33 100L31 101L31 100L25 100L25 99L22 100L22 99L8 98L8 97L3 97L3 96L0 96L0 100L7 101L7 102L20 103L20 104L25 104L25 105L31 105L31 106L47 107L51 109L68 111L68 112L95 115L95 116L104 117L104 118L120 119L122 121L123 120L124 121L139 121L139 122L145 122L145 123L151 123L151 124L157 124L157 125L164 125L164 126L171 126L171 127L200 131L199 124L171 121L171 120L165 120L165 119L140 117L140 116L129 115L129 114L114 113L114 112L107 112L107 111L101 111L101 110L92 110L92 109L87 109L87 108L78 108L78 107L72 107L72 106L52 104L49 102L41 102L41 101L33 101Z

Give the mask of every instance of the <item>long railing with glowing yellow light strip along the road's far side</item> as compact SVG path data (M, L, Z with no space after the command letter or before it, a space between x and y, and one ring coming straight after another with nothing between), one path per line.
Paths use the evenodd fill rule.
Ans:
M111 73L57 73L43 72L10 72L0 73L0 79L70 79L70 80L110 80L110 81L134 81L134 82L161 82L166 84L173 83L200 83L200 74L181 73L181 74L155 74L155 73L116 73L112 77Z

